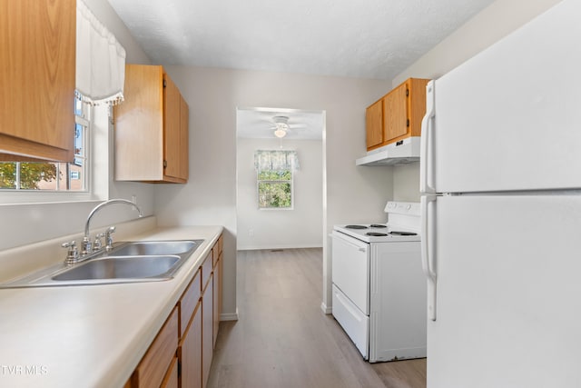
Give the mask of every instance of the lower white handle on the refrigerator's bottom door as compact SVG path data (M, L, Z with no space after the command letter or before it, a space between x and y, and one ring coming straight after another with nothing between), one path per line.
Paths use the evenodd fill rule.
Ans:
M420 201L421 207L421 258L422 268L428 280L428 319L436 321L436 255L434 252L434 228L433 218L429 214L433 214L433 209L436 205L438 196L436 195L422 195ZM430 205L431 204L431 205Z

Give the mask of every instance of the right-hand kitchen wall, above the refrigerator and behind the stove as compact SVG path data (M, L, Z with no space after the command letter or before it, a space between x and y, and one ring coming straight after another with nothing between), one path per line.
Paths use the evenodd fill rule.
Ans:
M560 0L497 0L394 78L392 86L409 77L436 79L470 57L525 25ZM396 201L419 201L419 163L394 168Z

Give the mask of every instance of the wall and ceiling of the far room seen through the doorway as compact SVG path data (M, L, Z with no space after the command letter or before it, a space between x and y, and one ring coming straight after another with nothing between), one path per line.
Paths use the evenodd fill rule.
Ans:
M236 134L238 250L322 247L325 112L238 108ZM260 201L261 180L269 175L258 171L257 155L266 152L294 153L298 159L297 165L289 168L291 203L281 207L264 206Z

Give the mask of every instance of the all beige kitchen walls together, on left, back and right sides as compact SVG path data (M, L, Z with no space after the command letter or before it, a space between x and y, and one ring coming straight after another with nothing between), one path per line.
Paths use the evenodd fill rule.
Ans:
M106 1L87 0L94 14L117 36L128 62L149 63ZM333 224L367 223L383 214L389 199L419 200L419 166L356 167L365 154L365 107L409 76L438 77L500 37L557 3L556 0L497 0L458 32L391 81L231 71L183 66L168 70L190 105L188 184L113 183L112 197L131 198L160 224L222 224L226 227L224 313L236 311L236 138L237 106L270 106L327 112L323 154L323 238ZM0 249L82 230L94 203L0 206ZM95 220L120 222L133 213ZM377 221L382 221L377 219ZM323 244L323 304L330 306L329 240Z

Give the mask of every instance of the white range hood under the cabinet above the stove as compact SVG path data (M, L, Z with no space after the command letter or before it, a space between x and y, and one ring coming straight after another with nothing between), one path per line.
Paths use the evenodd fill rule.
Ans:
M384 145L355 160L355 165L395 165L419 162L419 136Z

